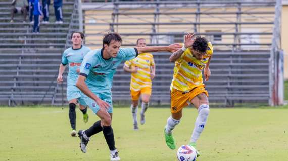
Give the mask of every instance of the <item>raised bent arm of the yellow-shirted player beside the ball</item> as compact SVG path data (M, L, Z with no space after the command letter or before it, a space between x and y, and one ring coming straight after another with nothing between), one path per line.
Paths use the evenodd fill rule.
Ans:
M181 46L182 48L178 49L169 57L170 62L175 62L176 60L178 60L184 53L184 51L194 43L194 40L192 39L193 36L194 36L193 33L185 35L184 46L183 47Z

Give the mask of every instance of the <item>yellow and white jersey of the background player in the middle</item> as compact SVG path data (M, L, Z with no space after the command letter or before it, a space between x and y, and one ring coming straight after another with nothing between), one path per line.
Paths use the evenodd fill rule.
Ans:
M127 68L138 67L138 71L131 74L130 90L139 91L143 87L152 88L150 74L151 66L154 65L153 55L150 53L139 54L135 59L125 62L124 66Z

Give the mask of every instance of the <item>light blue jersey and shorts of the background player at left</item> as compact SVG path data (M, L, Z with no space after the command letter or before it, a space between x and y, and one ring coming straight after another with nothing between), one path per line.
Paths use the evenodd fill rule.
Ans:
M67 100L77 98L81 105L86 105L84 101L85 96L77 87L76 81L79 75L77 69L80 69L84 56L91 51L88 47L81 46L80 49L72 49L72 47L66 49L62 55L61 63L63 65L69 64L69 72L67 76Z

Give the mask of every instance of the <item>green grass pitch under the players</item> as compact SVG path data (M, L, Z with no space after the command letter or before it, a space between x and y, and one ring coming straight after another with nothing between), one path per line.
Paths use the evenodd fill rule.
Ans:
M68 108L0 108L0 160L109 160L102 133L91 137L87 153L79 138L70 137ZM177 160L176 150L166 147L163 127L169 108L150 108L147 122L133 131L129 108L115 108L113 129L121 160ZM77 110L77 129L98 120L89 111L84 124ZM177 147L187 144L197 111L184 109L174 130ZM212 108L206 129L198 141L202 156L197 160L286 160L288 109Z

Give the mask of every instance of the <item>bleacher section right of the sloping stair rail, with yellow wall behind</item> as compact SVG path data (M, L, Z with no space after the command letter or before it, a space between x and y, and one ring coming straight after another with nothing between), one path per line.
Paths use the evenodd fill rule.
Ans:
M271 45L275 1L141 1L83 4L86 45L101 47L101 35L119 32L122 45L135 46L143 37L149 45L182 42L195 32L214 46L211 78L206 82L212 104L271 104ZM97 10L93 9L96 8ZM109 14L110 13L110 14ZM97 15L97 16L94 16ZM109 19L111 15L112 19ZM277 26L276 26L277 28ZM173 63L167 53L154 54L157 66L152 101L170 103ZM128 100L129 74L118 68L114 101Z

